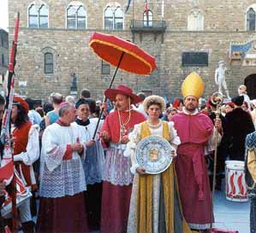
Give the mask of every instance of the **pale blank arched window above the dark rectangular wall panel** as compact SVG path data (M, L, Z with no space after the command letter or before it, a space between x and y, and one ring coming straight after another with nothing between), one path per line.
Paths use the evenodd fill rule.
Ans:
M192 9L188 15L188 30L202 31L204 30L204 15L199 9Z

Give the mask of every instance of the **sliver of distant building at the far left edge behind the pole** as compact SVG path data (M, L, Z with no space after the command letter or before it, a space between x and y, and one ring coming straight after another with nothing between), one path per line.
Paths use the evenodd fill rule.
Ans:
M9 64L8 32L0 28L0 75L5 75ZM2 83L2 80L0 80Z

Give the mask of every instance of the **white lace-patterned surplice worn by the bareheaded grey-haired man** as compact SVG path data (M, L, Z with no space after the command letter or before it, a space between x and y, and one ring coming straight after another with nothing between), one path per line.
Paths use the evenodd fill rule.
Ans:
M71 160L63 160L67 145L80 142L83 154L72 153ZM86 137L80 125L49 125L42 138L40 158L41 197L57 198L75 195L86 190L82 161L86 157Z

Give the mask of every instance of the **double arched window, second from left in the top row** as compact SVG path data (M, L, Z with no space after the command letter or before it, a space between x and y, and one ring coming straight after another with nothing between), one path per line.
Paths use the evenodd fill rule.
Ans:
M71 29L86 28L86 10L81 4L70 4L67 9L67 27Z

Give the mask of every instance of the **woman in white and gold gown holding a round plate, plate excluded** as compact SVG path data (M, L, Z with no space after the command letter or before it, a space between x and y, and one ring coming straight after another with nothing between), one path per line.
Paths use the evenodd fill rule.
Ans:
M130 142L125 152L126 156L131 156L131 172L134 173L128 233L191 232L182 215L174 163L164 172L151 175L147 174L134 158L136 145L144 137L164 137L175 149L181 143L174 123L159 119L165 108L164 98L148 96L143 105L149 117L134 126L134 131L129 134ZM175 157L176 150L173 150L171 155Z

